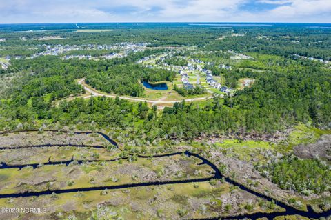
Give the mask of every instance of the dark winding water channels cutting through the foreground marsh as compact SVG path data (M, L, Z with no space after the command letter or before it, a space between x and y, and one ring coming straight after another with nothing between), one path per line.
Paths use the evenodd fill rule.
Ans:
M20 132L33 132L36 130L26 130L26 131L20 131ZM54 130L45 130L45 131L51 131L51 132L57 132ZM63 131L61 131L63 132ZM0 134L3 134L6 132L1 132ZM7 132L8 133L8 132ZM102 137L104 137L108 142L110 142L112 145L116 146L118 148L118 145L116 141L110 139L108 135L103 134L102 132L74 132L75 134L92 134L92 133L97 133L100 134ZM72 147L92 147L92 148L105 148L104 146L88 146L88 145L74 145L74 144L67 144L67 145L37 145L37 146L14 146L10 148L6 147L1 147L0 150L3 149L18 149L18 148L33 148L33 147L52 147L52 146L72 146ZM319 219L321 217L329 217L331 216L331 210L328 210L326 212L321 212L317 213L312 210L310 206L308 206L308 212L302 211L302 210L297 210L291 206L288 206L286 203L283 203L281 201L277 201L275 199L272 199L272 197L268 197L265 194L261 194L259 192L256 192L254 190L251 190L250 188L247 188L243 186L241 183L238 183L237 181L233 181L232 179L228 177L224 177L217 166L209 161L208 159L205 159L202 157L200 154L194 154L192 152L174 152L170 154L160 154L160 155L151 155L151 156L145 156L145 155L137 155L139 158L157 158L157 157L172 157L174 155L179 155L179 154L185 154L188 157L196 157L197 159L200 159L202 162L199 163L199 165L206 164L214 170L214 176L212 177L207 177L207 178L201 178L201 179L184 179L184 180L177 180L177 181L153 181L153 182L143 182L143 183L128 183L128 184L123 184L123 185L117 185L117 186L97 186L97 187L88 187L88 188L72 188L72 189L64 189L64 190L46 190L46 191L40 191L40 192L23 192L23 193L12 193L12 194L0 194L0 198L17 198L17 197L34 197L34 196L41 196L41 195L48 195L52 193L56 194L62 194L62 193L68 193L68 192L88 192L92 190L112 190L112 189L123 189L123 188L134 188L134 187L141 187L141 186L161 186L161 185L167 185L167 184L180 184L180 183L199 183L199 182L205 182L205 181L210 181L211 179L225 179L226 182L238 186L241 190L244 190L245 192L249 192L250 194L254 194L257 197L261 197L267 201L275 201L277 206L284 208L285 212L272 212L272 213L263 213L263 212L257 212L254 214L243 214L243 215L238 215L238 216L232 216L232 217L222 217L222 219L244 219L244 218L250 218L250 219L258 219L262 217L266 217L267 219L273 219L274 217L279 217L283 215L292 215L292 214L299 214L303 217L308 217L312 219ZM75 161L75 163L81 164L81 163L88 163L88 162L112 162L112 161L117 161L120 158L117 159L111 159L111 160L78 160ZM126 159L126 158L123 158ZM58 164L64 164L68 166L70 163L74 162L74 159L71 159L69 161L50 161L48 160L47 163L43 163L43 166L50 166L50 165L58 165ZM8 168L24 168L26 166L32 166L32 168L37 168L39 166L39 163L31 163L31 164L17 164L17 165L11 165L11 164L6 164L6 163L0 163L0 169L8 169ZM220 217L210 217L210 218L205 218L205 220L216 220L219 219ZM201 219L204 220L204 219Z

